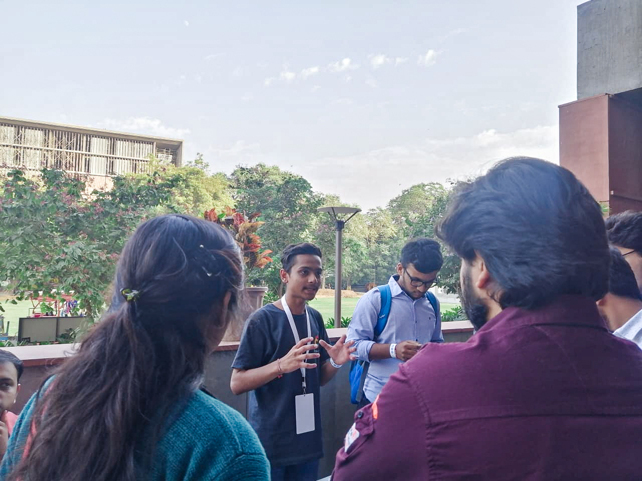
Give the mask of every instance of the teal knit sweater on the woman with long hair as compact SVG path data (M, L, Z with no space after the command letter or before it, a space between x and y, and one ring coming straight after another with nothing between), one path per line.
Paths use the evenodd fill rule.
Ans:
M22 457L35 394L18 418L0 466L0 480ZM270 479L270 465L259 438L243 416L202 391L196 391L168 426L154 454L150 481L240 481Z

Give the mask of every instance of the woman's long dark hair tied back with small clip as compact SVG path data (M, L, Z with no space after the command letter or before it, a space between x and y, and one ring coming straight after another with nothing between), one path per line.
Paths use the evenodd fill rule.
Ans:
M207 333L225 331L242 288L239 248L216 223L168 214L141 224L107 313L40 388L30 450L10 479L146 478L169 416L202 385L220 341Z

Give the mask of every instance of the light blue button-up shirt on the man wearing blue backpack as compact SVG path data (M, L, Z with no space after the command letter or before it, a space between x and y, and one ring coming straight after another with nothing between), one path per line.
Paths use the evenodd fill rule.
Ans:
M390 344L392 342L417 341L444 342L441 330L435 328L439 312L430 305L425 297L413 300L397 283L398 276L388 281L392 300L388 323L381 335L374 339L374 327L381 310L381 293L379 289L366 292L354 308L352 321L348 326L347 340L354 340L356 355L360 360L369 360L370 349L375 342ZM437 301L439 311L439 301ZM399 359L377 359L370 362L368 375L363 384L363 392L370 401L374 401L388 378L399 368Z

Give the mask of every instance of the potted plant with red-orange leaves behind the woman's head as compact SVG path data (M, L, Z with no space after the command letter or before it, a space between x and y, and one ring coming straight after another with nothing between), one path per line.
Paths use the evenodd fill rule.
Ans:
M234 240L241 249L243 254L243 262L245 262L245 278L250 277L249 274L254 269L263 269L272 262L269 254L272 253L270 249L262 249L261 237L257 235L256 231L265 222L257 221L257 217L261 215L260 212L250 214L246 217L244 212L236 212L236 209L225 207L225 212L220 214L216 209L205 211L205 219L215 222L229 230L234 237ZM265 293L268 292L268 287L265 286L246 286L245 294L248 301L248 312L241 312L242 317L247 317L249 314L263 306L263 298ZM245 318L243 323L245 323ZM243 326L230 326L230 329L225 333L223 341L238 341L241 337Z

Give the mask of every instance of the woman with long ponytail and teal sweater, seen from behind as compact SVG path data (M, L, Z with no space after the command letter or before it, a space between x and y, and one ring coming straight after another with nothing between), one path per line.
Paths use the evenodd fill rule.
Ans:
M229 233L188 215L150 219L114 287L78 353L22 410L0 479L268 480L252 428L200 389L243 288Z

